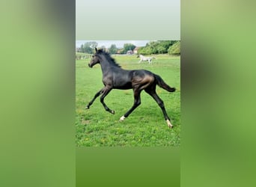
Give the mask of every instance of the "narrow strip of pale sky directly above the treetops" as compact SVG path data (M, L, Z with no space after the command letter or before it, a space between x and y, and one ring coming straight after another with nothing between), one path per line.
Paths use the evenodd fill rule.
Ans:
M80 47L82 44L90 41L95 41L98 46L106 46L109 48L111 44L115 44L118 48L124 47L124 43L132 43L135 46L146 46L150 40L76 40L76 47Z

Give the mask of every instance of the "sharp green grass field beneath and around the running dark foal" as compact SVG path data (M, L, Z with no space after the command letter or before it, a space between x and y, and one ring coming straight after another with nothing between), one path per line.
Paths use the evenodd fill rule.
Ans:
M157 86L156 93L165 103L168 116L174 125L169 129L161 108L144 91L141 105L119 122L133 104L132 90L112 90L105 98L106 105L115 114L105 111L100 96L91 108L85 106L97 91L103 88L100 65L88 67L91 59L76 61L76 144L78 147L135 147L135 146L179 146L180 145L180 57L154 55L153 64L138 64L136 55L112 55L127 70L145 69L158 74L171 87L169 93Z

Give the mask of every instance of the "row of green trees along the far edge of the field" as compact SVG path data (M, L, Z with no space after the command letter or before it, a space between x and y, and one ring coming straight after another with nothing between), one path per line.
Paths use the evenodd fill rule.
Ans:
M88 54L94 53L94 48L99 47L95 41L87 42L82 44L76 52L84 52ZM123 48L118 48L115 44L112 44L109 49L105 46L100 46L101 49L105 49L110 54L127 54L129 51L135 49L135 45L132 43L124 43ZM179 40L156 40L150 41L146 46L138 47L138 54L141 55L152 55L152 54L166 54L169 55L180 55L180 41Z

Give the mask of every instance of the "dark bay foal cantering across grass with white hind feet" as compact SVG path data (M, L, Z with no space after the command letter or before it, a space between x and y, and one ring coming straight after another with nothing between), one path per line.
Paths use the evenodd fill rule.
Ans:
M165 111L165 105L162 102L162 99L156 94L156 85L165 89L169 92L174 92L175 88L171 88L168 86L160 76L157 76L154 73L151 73L147 70L124 70L120 67L119 64L115 62L115 59L112 58L109 53L103 51L102 49L95 48L96 52L92 56L90 63L88 64L89 67L93 67L95 64L100 64L101 70L103 71L103 84L104 88L98 91L94 98L89 102L86 108L90 108L93 104L94 100L100 97L100 102L103 104L103 107L106 111L109 111L112 114L115 114L115 111L109 109L109 107L105 104L104 98L112 89L121 89L127 90L132 89L134 94L134 103L132 108L127 111L124 116L120 118L120 121L123 121L129 114L134 111L138 105L141 104L141 91L146 91L153 99L156 100L159 107L162 109L162 113L165 117L165 120L168 126L171 128L172 124L170 118L168 117Z

